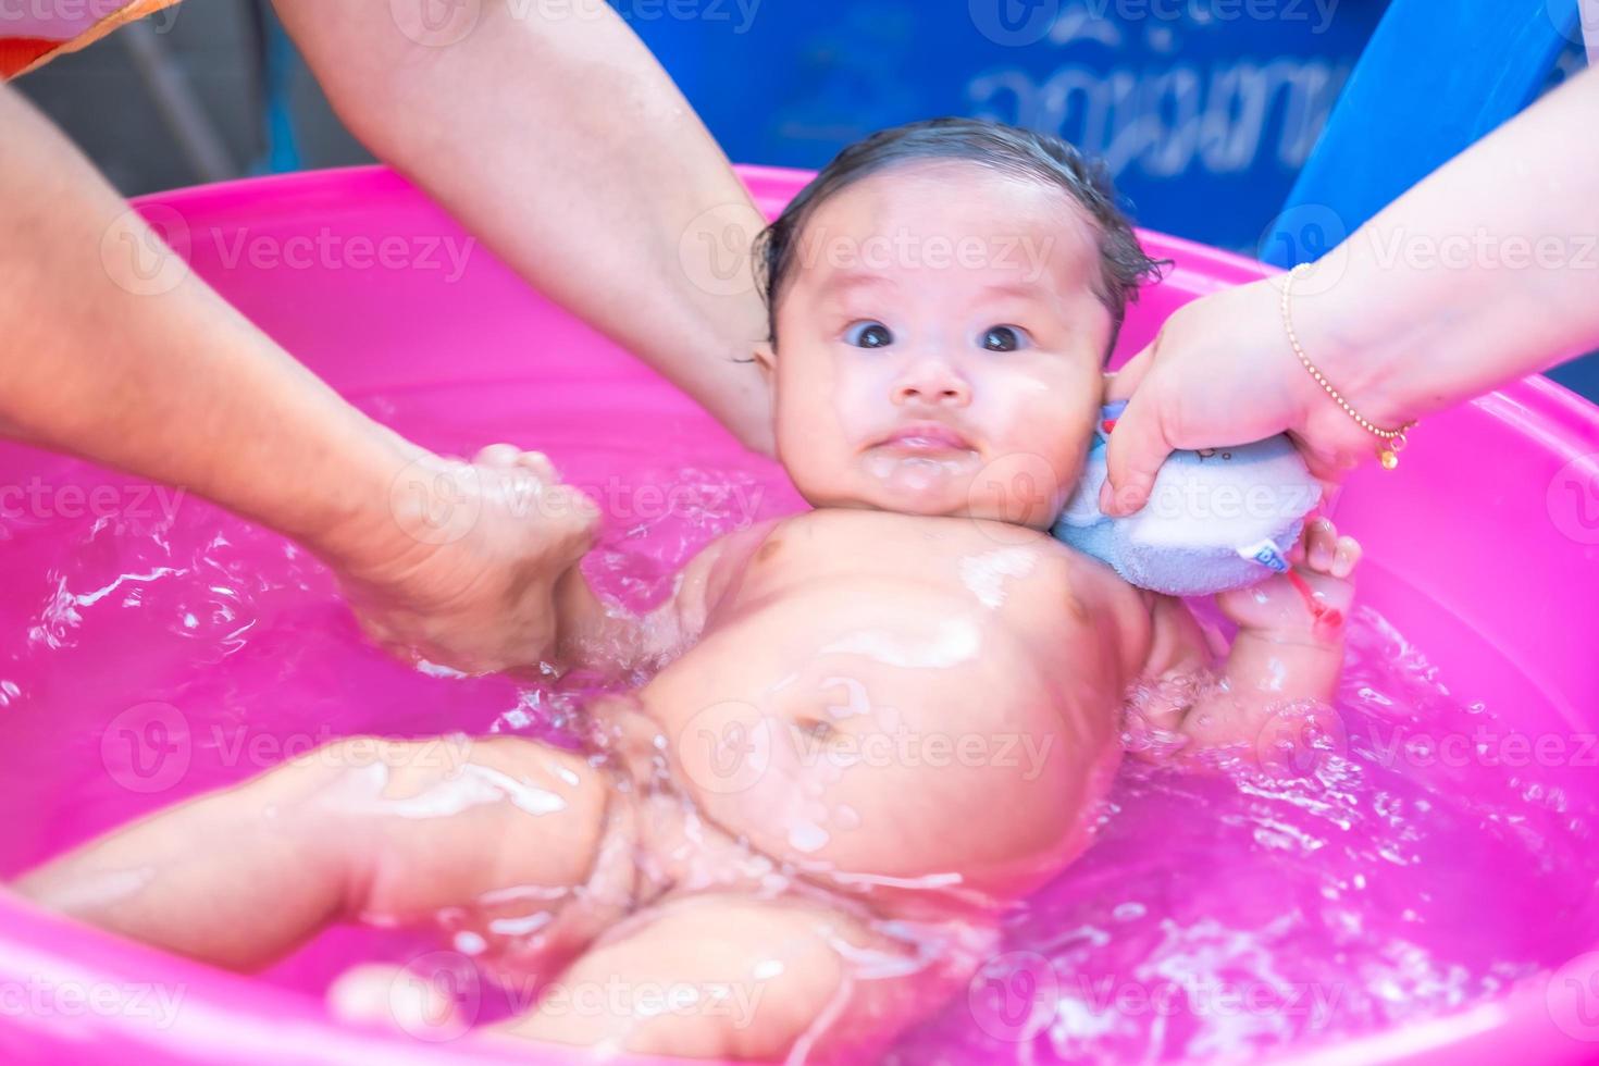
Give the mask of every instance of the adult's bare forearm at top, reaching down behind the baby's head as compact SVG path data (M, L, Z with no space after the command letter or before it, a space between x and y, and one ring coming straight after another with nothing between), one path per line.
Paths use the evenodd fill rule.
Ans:
M389 0L277 6L374 153L531 284L771 447L747 361L766 332L745 253L758 214L611 8L484 0L475 21L432 32L401 26Z

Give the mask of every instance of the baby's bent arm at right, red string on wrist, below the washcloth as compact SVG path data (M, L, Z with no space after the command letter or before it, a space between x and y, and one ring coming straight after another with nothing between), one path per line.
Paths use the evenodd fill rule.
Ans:
M1271 724L1286 708L1332 700L1361 545L1318 518L1306 524L1298 555L1290 574L1217 596L1222 612L1238 623L1238 636L1215 684L1182 684L1206 674L1204 636L1180 601L1154 604L1143 676L1177 682L1159 689L1177 698L1162 703L1158 694L1142 711L1154 729L1186 738L1183 754L1226 746L1257 759L1273 743Z

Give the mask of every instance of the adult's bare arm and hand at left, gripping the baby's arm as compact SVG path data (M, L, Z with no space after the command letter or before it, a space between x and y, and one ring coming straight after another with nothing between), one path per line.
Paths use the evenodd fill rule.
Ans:
M510 475L357 411L182 268L5 86L0 152L0 432L294 537L406 655L470 671L539 660L520 626L537 607L524 574L580 555L593 508L529 516ZM438 513L470 527L438 535Z

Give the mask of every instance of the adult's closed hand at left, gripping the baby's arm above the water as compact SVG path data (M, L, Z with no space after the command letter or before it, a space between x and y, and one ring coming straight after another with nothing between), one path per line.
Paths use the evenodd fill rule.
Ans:
M387 535L329 559L361 628L413 662L537 666L558 638L555 583L593 543L598 507L512 444L470 463L414 454L393 483Z

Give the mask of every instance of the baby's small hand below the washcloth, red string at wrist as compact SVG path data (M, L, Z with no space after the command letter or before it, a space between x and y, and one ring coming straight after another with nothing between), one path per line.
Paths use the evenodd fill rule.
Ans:
M1217 606L1244 630L1337 642L1354 599L1351 574L1361 561L1359 542L1340 537L1332 519L1316 518L1305 524L1290 558L1287 574L1222 593Z

